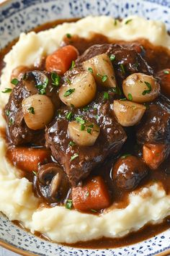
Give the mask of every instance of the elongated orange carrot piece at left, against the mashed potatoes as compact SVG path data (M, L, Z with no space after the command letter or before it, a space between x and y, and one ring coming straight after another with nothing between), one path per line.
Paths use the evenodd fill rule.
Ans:
M6 155L23 171L37 171L38 164L50 158L50 151L46 148L11 148Z

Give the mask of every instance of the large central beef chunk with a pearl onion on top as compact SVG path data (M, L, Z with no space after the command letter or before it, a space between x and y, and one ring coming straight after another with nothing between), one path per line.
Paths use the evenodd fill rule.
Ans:
M100 134L93 146L71 147L67 127L66 114L70 111L66 106L61 108L55 121L45 130L46 145L52 150L53 157L63 165L68 179L73 186L81 179L86 178L90 171L102 163L108 155L116 154L126 140L126 135L120 124L117 123L109 101L102 100L103 95L97 96L96 101L90 104L89 109L73 110L73 118L82 116L86 121L97 123ZM71 156L78 154L73 161Z

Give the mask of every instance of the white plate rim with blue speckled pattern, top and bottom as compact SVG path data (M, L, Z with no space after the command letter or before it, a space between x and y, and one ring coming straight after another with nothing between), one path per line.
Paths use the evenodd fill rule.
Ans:
M152 20L162 20L170 29L169 0L12 0L0 9L0 48L27 31L44 22L84 17L86 15L111 15L127 17L138 14ZM156 255L170 249L170 231L138 244L116 249L76 249L54 244L27 233L0 214L0 238L37 255L58 256L118 256Z

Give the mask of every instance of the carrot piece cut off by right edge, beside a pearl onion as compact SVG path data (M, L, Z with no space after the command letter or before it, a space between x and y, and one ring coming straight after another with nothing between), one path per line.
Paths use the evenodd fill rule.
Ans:
M161 92L170 98L170 69L161 70L158 77L161 78Z

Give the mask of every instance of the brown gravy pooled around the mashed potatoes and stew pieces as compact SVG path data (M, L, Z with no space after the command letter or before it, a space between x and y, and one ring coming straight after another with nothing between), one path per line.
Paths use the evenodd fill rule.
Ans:
M35 32L39 32L41 30L46 30L50 27L55 27L58 24L62 24L63 22L73 22L78 19L73 19L73 20L58 20L55 22L48 22L45 25L40 25L39 27L35 28ZM1 74L1 69L4 67L4 62L3 58L4 55L12 48L14 43L16 43L17 40L14 40L12 43L9 43L6 48L4 48L2 51L0 51L0 74ZM153 46L151 43L148 42L148 40L145 39L139 39L135 40L135 42L140 43L145 49L146 49L146 55L145 59L148 61L148 64L153 67L155 72L158 72L161 69L166 69L170 67L170 54L169 51L161 46ZM84 39L84 38L79 38L77 35L71 36L71 38L63 38L63 42L61 44L72 44L76 48L78 48L80 54L83 53L86 48L89 48L91 45L96 44L96 43L121 43L121 44L128 44L127 42L123 42L120 40L114 40L110 42L108 38L106 38L104 35L99 35L99 34L91 34L91 38ZM157 60L157 61L156 61ZM4 130L1 130L1 135L5 137L4 135ZM130 148L130 143L129 146L128 144L126 147ZM127 153L127 148L125 148L125 151ZM129 152L131 153L131 152ZM10 159L9 159L10 160ZM107 163L104 163L101 168L99 168L97 171L94 170L94 174L100 174L102 175L103 173L103 168L104 168L104 178L107 180L107 184L110 190L112 190L112 186L110 183L110 170L112 166L113 161L107 161ZM28 177L29 180L32 181L33 175ZM141 182L140 187L143 187L143 185L146 185L151 182L155 181L160 181L164 189L166 190L166 193L170 193L170 164L169 164L169 159L163 163L158 170L156 171L150 171L150 174L146 177L146 179ZM114 202L116 204L117 208L125 208L128 205L128 192L122 192L118 189L115 189L112 191L112 195L114 195ZM50 207L52 205L47 204L47 202L41 202L41 204L47 205L47 207ZM91 213L93 214L93 213ZM20 226L18 222L14 222L17 225ZM142 229L140 229L137 232L133 232L131 234L128 234L128 236L124 236L120 239L109 239L109 238L102 238L102 239L97 239L97 240L92 240L89 242L79 242L76 244L65 244L65 245L70 245L73 247L81 247L81 248L113 248L113 247L122 247L122 246L127 246L128 244L134 244L137 242L140 242L144 239L148 239L151 236L154 236L158 233L161 233L162 231L169 229L170 227L170 219L166 218L163 223L158 224L158 225L147 225L144 226ZM39 234L38 232L36 233L37 236L40 236L41 238L45 238L42 234Z

